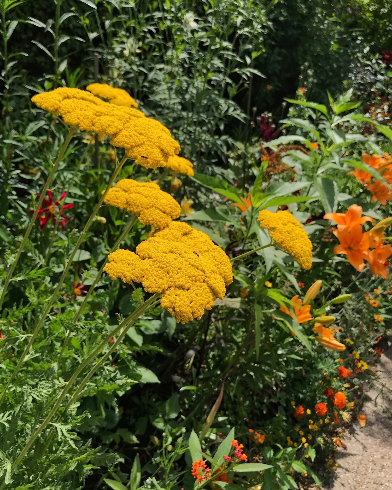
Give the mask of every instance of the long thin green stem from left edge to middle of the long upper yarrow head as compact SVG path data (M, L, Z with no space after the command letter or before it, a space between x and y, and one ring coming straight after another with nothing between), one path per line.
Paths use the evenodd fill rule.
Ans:
M36 325L36 327L34 328L34 331L30 337L30 340L28 342L28 344L26 345L25 347L25 350L23 351L19 361L18 361L18 364L16 365L15 369L14 369L14 372L12 373L12 376L10 377L8 383L5 385L5 387L3 388L3 394L1 395L1 398L0 398L0 405L1 403L3 402L4 398L5 398L5 395L6 395L6 392L7 392L7 387L9 386L9 384L13 381L13 379L15 378L15 376L18 374L18 372L20 371L21 367L22 367L22 364L23 362L25 361L25 357L26 355L28 354L29 350L31 349L35 339L37 338L37 335L42 327L42 325L44 324L44 321L46 319L46 317L48 316L51 308L52 308L52 305L54 303L54 301L56 300L56 297L57 297L57 294L58 292L60 291L60 288L61 286L63 285L63 282L68 274L68 271L71 267L71 264L73 262L73 258L76 254L76 252L78 251L80 245L82 244L91 224L93 223L94 221L94 218L95 216L97 215L98 211L99 211L99 208L101 207L102 205L102 202L103 202L103 199L105 198L106 194L109 192L109 189L112 187L112 184L113 182L115 181L117 175L119 174L119 172L121 171L121 169L123 168L123 165L124 163L126 162L126 160L128 159L128 157L125 155L122 159L122 161L119 163L119 165L117 166L115 172L113 173L112 177L110 178L109 180L109 183L108 185L106 186L106 189L105 189L105 192L102 194L102 196L100 197L99 201L98 201L98 204L97 206L95 207L94 211L92 212L89 220L87 221L86 223L86 226L83 228L83 231L81 232L80 234L80 237L79 237L79 240L77 241L76 245L74 246L73 248L73 251L68 259L68 262L67 262L67 265L65 266L64 268L64 271L60 277L60 280L56 286L56 289L54 290L53 294L51 295L50 299L49 299L49 302L47 304L47 307L45 308L45 311L44 313L42 314L41 318L38 320L38 323Z

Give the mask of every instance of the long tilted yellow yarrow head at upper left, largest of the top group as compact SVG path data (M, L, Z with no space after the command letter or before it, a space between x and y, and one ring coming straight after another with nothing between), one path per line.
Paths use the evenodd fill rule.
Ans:
M104 102L89 92L74 88L57 88L31 99L39 107L78 126L82 131L104 133L110 143L125 148L126 155L143 167L165 167L170 156L180 151L168 128L159 121L146 118L131 107Z

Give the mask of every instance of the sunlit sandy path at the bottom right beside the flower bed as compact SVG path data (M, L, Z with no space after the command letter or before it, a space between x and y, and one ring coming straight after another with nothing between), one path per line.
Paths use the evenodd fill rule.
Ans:
M325 490L392 490L392 349L377 366L380 380L368 392L370 400L361 412L367 417L361 429L354 422L337 451L336 476ZM315 490L320 487L313 487Z

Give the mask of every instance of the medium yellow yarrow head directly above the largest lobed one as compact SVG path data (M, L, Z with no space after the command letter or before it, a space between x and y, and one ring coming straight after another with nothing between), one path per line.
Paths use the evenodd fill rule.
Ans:
M152 182L121 179L109 189L104 201L126 209L136 215L141 223L151 224L155 228L169 226L172 218L178 218L181 214L178 202Z

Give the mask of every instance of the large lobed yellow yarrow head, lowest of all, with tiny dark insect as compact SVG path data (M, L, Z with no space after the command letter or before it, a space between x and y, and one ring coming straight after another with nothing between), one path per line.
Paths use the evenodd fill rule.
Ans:
M161 293L162 308L181 323L211 310L233 280L224 251L205 233L178 221L139 244L136 253L111 253L104 270L112 279L141 282L149 293Z

